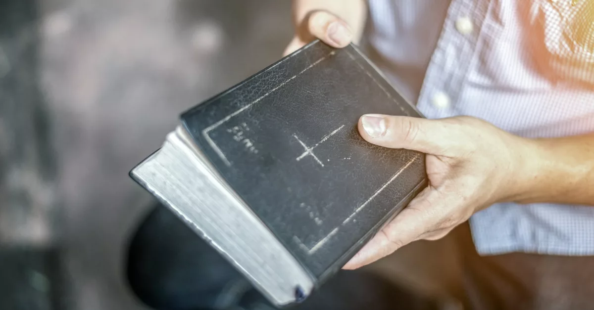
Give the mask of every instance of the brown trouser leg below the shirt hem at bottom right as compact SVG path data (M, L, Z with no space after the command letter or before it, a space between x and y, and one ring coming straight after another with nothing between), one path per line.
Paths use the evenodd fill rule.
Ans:
M469 309L594 309L594 257L479 256L468 224L457 233Z

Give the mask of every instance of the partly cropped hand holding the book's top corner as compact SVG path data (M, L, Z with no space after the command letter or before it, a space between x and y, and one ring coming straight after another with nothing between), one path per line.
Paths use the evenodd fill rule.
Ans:
M283 55L289 55L314 39L334 48L358 42L366 14L364 0L293 0L295 36Z

